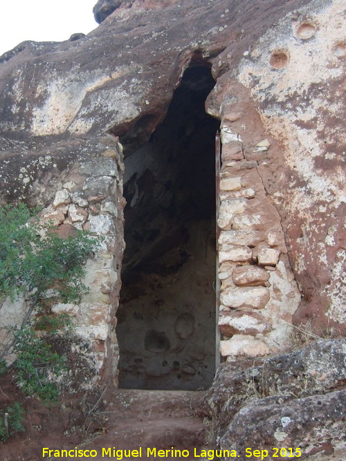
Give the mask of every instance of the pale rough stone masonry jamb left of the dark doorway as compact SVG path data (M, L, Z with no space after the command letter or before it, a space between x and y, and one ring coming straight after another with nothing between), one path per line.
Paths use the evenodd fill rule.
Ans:
M56 191L53 203L40 214L42 223L51 221L61 236L69 236L79 229L103 238L93 258L86 262L84 283L89 292L78 305L59 303L51 308L53 314L71 316L75 332L91 344L99 372L104 360L111 355L107 339L115 337L112 330L118 308L118 297L113 293L120 279L115 250L119 245L118 217L124 206L121 153L121 145L117 144L116 149L107 149L99 156L76 162ZM113 348L113 360L117 364L116 341L109 347Z

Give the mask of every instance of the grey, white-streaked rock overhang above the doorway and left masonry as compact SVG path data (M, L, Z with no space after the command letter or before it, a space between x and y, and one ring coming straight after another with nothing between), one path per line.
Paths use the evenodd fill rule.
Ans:
M120 9L78 41L17 47L0 67L1 132L25 138L94 135L120 125L121 135L139 115L156 115L158 123L196 52L213 61L234 46L235 64L255 39L258 12L246 1L228 8L223 1L198 8L189 1L170 3L154 10ZM280 15L271 5L266 26Z

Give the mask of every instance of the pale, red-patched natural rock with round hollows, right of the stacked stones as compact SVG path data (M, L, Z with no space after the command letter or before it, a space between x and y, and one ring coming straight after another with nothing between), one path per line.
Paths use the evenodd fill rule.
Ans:
M312 1L268 30L237 70L282 148L276 184L265 182L303 294L295 319L337 328L346 300L343 15L341 1Z

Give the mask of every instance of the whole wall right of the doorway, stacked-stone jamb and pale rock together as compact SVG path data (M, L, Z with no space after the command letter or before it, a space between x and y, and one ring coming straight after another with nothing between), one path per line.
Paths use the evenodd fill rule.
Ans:
M345 137L337 122L345 111L342 10L338 1L316 1L289 13L219 77L208 98L224 144L224 355L280 350L292 322L311 323L321 335L325 328L345 330ZM234 53L229 47L219 55L215 75ZM339 95L335 104L331 91Z

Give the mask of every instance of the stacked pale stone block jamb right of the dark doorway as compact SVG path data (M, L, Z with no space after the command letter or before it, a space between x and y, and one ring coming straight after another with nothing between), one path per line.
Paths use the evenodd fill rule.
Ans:
M300 301L280 216L266 196L258 160L246 155L248 150L265 154L270 143L244 146L244 135L233 129L237 117L224 117L221 126L217 217L220 351L228 360L282 350Z

